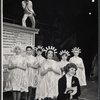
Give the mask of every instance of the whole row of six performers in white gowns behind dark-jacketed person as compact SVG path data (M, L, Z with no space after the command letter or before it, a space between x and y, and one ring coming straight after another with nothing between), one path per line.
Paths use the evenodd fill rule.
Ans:
M33 50L36 51L36 57L33 56ZM78 57L81 50L77 47L72 49L74 56L69 61L67 61L69 52L60 51L62 59L59 62L53 60L57 53L57 49L53 46L43 49L42 46L34 48L27 45L26 55L23 56L23 45L18 42L13 45L12 51L15 55L9 59L9 76L4 90L12 91L14 100L20 100L21 92L25 92L26 100L55 99L58 96L58 80L64 75L64 66L69 63L77 65L75 76L79 79L80 86L86 85L83 60ZM43 52L46 59L42 56ZM36 90L34 94L32 89Z

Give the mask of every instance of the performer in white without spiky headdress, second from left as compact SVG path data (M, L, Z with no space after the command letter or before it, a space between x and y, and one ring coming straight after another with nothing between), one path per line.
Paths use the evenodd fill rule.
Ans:
M28 67L28 100L35 98L35 91L37 87L37 74L38 74L38 62L36 60L36 57L34 57L33 54L34 46L28 45L26 47L26 62ZM33 90L33 93L32 93Z

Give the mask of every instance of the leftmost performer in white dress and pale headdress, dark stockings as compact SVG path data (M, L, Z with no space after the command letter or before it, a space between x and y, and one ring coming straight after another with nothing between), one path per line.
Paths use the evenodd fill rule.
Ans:
M12 47L15 55L9 60L9 76L5 91L13 91L13 100L20 100L21 92L28 92L27 65L21 55L22 47L20 42L15 43Z

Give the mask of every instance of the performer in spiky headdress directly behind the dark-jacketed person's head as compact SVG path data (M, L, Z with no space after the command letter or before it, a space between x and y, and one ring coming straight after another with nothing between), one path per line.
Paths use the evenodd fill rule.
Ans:
M69 52L66 50L62 50L60 51L59 55L61 56L61 61L58 62L59 63L59 67L61 69L61 76L64 75L64 67L69 63L69 61L67 61L68 56L70 56Z

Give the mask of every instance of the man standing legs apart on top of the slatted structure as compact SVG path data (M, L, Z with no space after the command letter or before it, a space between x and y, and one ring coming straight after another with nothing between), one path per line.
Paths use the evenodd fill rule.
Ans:
M30 0L24 0L22 1L22 7L24 9L24 16L22 18L22 26L26 27L26 20L29 17L32 22L32 28L35 28L35 18L36 16L33 8L33 4Z

